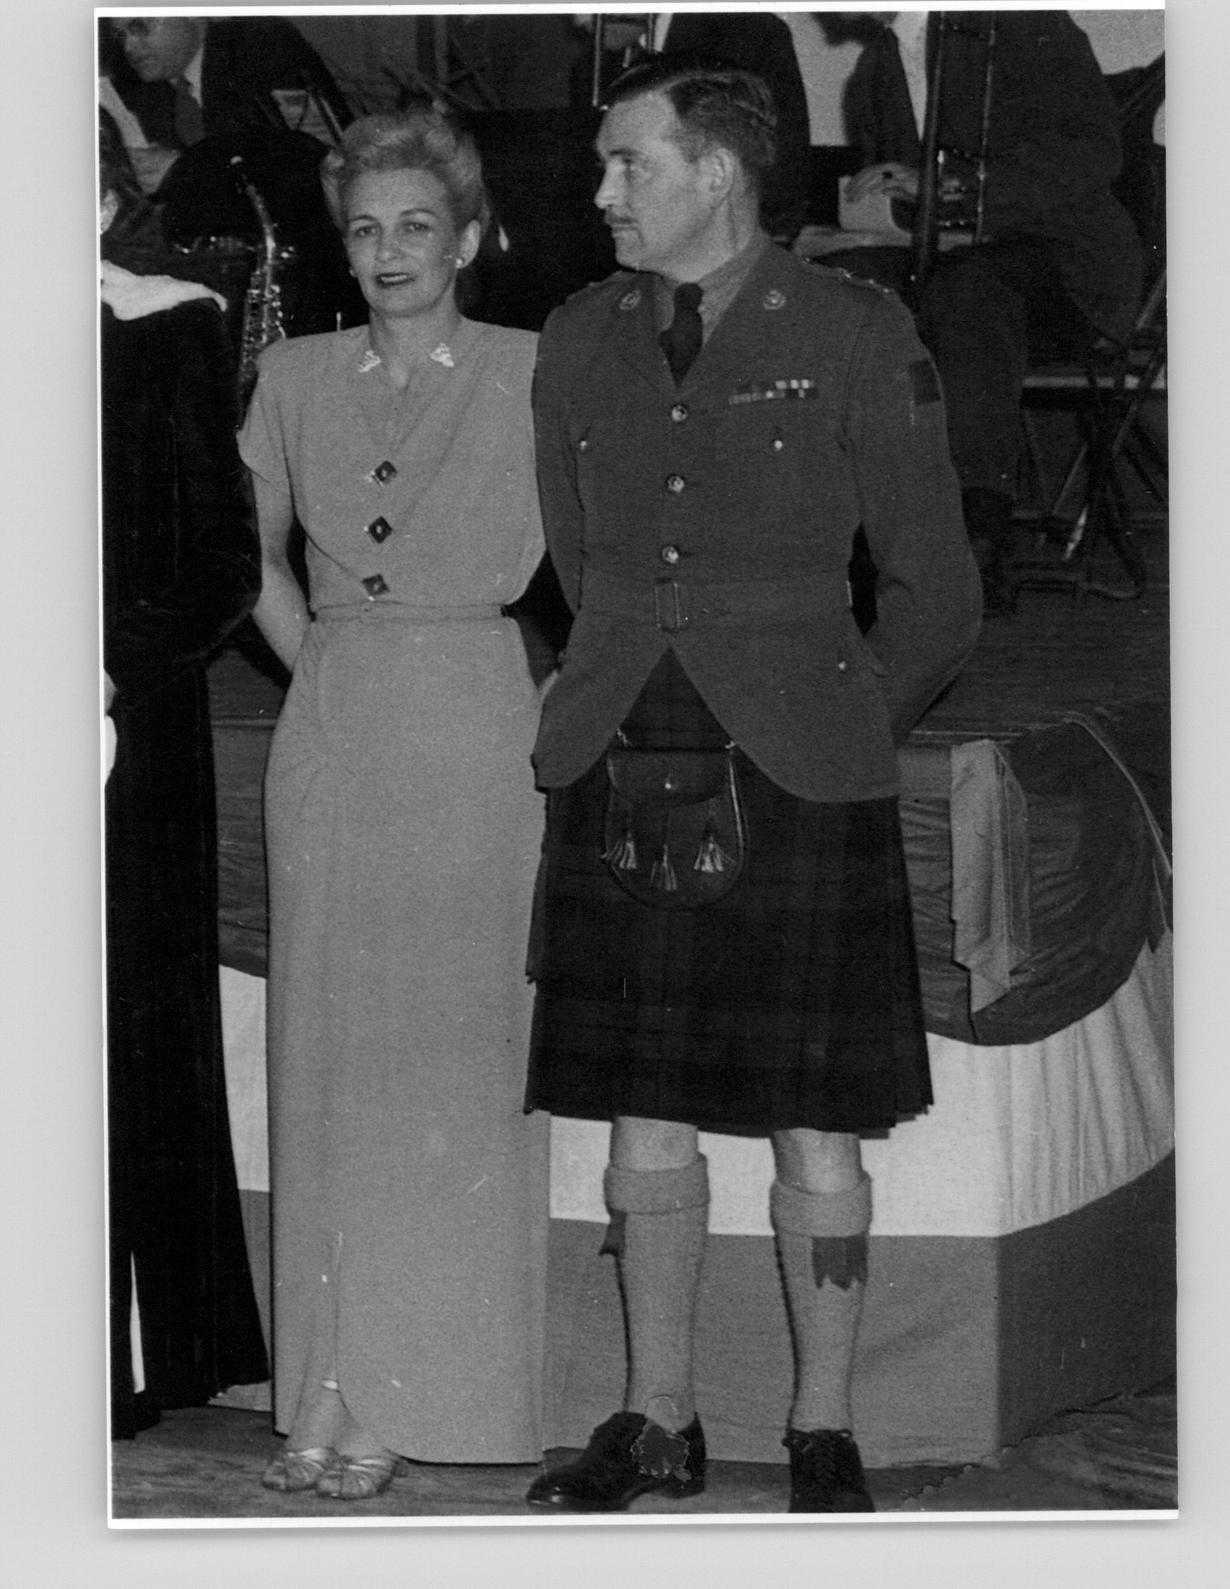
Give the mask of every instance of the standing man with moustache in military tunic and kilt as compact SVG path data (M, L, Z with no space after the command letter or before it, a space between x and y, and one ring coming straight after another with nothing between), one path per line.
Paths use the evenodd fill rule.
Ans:
M631 1357L625 1409L529 1492L555 1511L704 1487L698 1128L774 1144L791 1511L871 1510L850 1433L858 1133L931 1096L893 739L971 648L979 586L909 315L758 226L774 122L744 72L663 57L621 78L596 202L628 273L540 342L540 494L575 623L536 747L528 1108L613 1120Z

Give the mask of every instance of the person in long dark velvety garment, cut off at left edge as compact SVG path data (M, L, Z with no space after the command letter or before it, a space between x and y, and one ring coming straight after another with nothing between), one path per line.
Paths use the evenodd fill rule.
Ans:
M106 785L111 1427L124 1438L161 1408L269 1378L222 1071L203 666L254 602L261 563L221 300L143 273L156 227L106 122L100 172L103 661L118 739Z

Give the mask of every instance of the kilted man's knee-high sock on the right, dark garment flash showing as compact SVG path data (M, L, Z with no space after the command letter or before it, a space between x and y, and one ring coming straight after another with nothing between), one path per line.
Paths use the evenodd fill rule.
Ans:
M850 1429L850 1374L868 1278L871 1177L847 1192L776 1181L769 1212L795 1338L790 1427Z

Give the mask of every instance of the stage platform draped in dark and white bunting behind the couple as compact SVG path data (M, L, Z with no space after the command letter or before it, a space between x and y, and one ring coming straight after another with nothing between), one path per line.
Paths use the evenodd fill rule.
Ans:
M979 1460L1174 1365L1168 593L1151 548L1158 559L1141 602L1023 597L903 750L936 1103L864 1144L855 1432L876 1467ZM267 1319L261 777L281 690L232 650L211 693L232 1138ZM621 1395L615 1265L599 1257L605 1138L553 1122L548 1446L583 1444ZM706 1430L717 1457L777 1462L790 1338L771 1154L718 1136L704 1150ZM232 1400L267 1406L267 1387Z

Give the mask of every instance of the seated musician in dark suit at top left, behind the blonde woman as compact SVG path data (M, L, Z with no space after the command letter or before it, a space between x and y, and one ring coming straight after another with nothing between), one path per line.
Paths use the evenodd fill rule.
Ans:
M259 237L234 159L294 249L291 329L332 331L356 296L319 191L319 162L351 113L329 70L281 17L113 17L102 24L100 103L119 124L167 238ZM229 281L211 283L234 296Z

